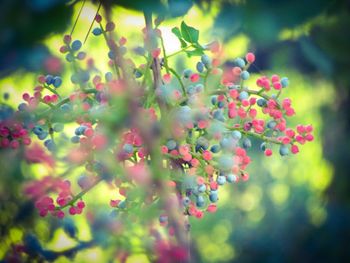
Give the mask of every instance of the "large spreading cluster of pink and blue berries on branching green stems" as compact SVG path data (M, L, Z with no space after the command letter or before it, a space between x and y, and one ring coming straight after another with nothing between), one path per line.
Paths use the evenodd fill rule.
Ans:
M104 28L101 16L95 20L99 27L92 34L106 40L110 71L98 71L93 59L81 51L82 42L67 35L60 52L73 64L71 94L62 96L61 77L41 75L33 96L24 93L18 111L1 119L2 148L17 149L20 143L38 139L51 158L67 166L85 166L87 175L77 180L81 188L77 195L69 181L60 178L45 177L28 185L26 193L36 200L41 216L63 218L66 207L71 215L81 214L82 196L105 180L123 196L110 201L118 210L128 212L171 194L182 214L201 218L216 211L219 188L249 179L249 149L255 143L266 156L274 147L286 156L313 140L311 125L288 126L296 113L291 99L281 98L288 78L261 76L257 88L246 84L253 53L227 68L219 59L220 45L199 44L198 30L183 22L181 29L172 30L182 49L167 55L158 21L156 28L148 25L142 30L144 46L130 49L129 54L126 38L115 34L115 24L108 22ZM170 66L171 57L181 52L199 58L195 69ZM138 65L126 54L145 63ZM64 125L72 123L74 133ZM59 158L62 152L64 158ZM43 150L29 148L27 153L29 162L54 166ZM163 177L154 175L157 169L166 171ZM169 209L161 209L162 225L174 221L168 220Z

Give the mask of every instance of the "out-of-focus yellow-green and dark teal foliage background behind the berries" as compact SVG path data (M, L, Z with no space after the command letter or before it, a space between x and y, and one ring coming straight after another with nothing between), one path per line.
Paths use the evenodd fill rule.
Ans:
M201 43L222 41L228 61L253 51L257 58L251 68L253 80L257 74L288 76L291 85L284 96L294 101L293 124L314 125L315 141L296 156L276 154L266 159L258 147L251 150L250 180L225 186L217 213L191 221L194 262L349 262L349 1L152 0L146 7L144 1L128 2L132 1L103 1L113 11L118 33L128 39L128 47L142 40L140 10L144 8L167 17L160 29L168 53L179 49L171 28L185 20L200 30ZM36 76L47 73L48 59L56 59L51 73L68 76L58 49L81 5L81 1L1 2L0 93L10 94L7 104L18 104ZM85 38L96 9L96 3L86 2L73 38ZM89 36L84 50L102 71L107 68L102 39ZM185 55L172 63L176 66L184 60L194 67L196 60ZM63 86L69 92L69 78ZM74 246L64 231L56 230L58 222L38 219L23 198L20 186L30 179L27 167L11 165L4 158L0 164L0 258L11 242L21 240L24 229L37 233L49 248ZM33 169L38 178L45 173L42 167ZM86 202L105 206L113 194L100 185ZM75 220L79 237L88 240L86 219ZM123 234L134 248L127 262L147 262L140 241L143 234L140 226ZM112 257L112 252L97 247L82 250L75 261L113 262Z

